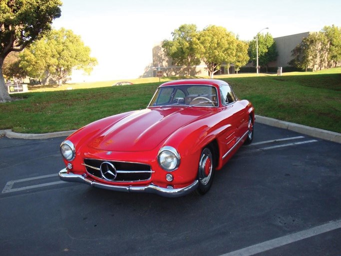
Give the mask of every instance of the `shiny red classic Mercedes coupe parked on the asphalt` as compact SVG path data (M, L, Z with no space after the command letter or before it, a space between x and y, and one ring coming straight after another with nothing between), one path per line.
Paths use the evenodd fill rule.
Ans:
M64 181L175 197L206 193L243 143L253 139L254 107L222 80L163 83L146 109L92 122L60 145Z

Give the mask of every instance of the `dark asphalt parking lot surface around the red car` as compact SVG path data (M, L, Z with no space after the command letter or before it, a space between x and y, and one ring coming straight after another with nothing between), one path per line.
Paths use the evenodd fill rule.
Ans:
M59 180L64 137L0 138L1 255L341 255L341 144L256 123L204 196Z

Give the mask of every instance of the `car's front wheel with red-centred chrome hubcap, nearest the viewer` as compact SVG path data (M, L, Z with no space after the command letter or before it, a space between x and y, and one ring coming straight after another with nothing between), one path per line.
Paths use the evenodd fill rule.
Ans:
M199 186L197 192L205 194L211 187L214 176L214 158L210 147L205 147L200 156L198 168Z

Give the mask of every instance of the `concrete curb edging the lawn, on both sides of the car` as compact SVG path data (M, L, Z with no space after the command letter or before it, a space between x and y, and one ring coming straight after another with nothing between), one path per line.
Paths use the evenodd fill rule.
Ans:
M256 115L256 122L267 124L274 127L284 128L296 132L300 132L312 137L322 138L337 143L341 143L341 133L333 132L329 130L318 129L306 125L301 125L293 122L281 121L270 117ZM66 137L73 133L75 130L68 131L57 131L50 133L38 133L38 134L27 134L27 133L16 133L7 130L0 130L0 136L5 135L8 138L23 138L23 139L44 139L54 137Z

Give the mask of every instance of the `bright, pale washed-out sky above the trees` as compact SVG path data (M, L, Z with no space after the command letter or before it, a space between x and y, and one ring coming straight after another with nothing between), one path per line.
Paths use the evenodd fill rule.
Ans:
M341 0L63 0L55 29L81 36L96 57L90 75L73 82L138 78L152 63L152 48L181 24L225 27L241 40L263 28L273 37L341 26Z

